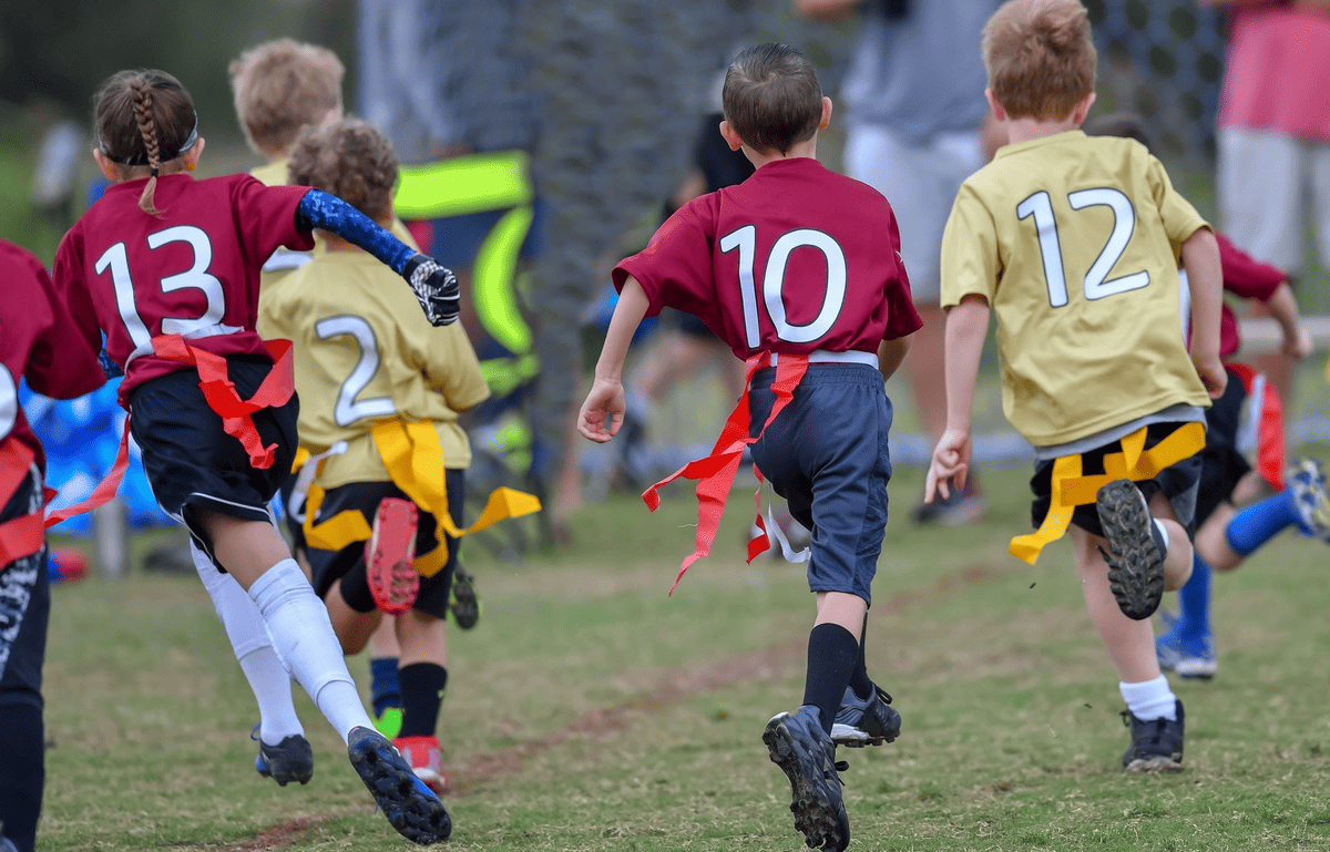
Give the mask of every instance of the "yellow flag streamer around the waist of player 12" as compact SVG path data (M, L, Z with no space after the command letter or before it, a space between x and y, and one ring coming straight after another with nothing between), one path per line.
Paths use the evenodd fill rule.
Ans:
M1007 546L1011 554L1033 565L1045 545L1067 534L1076 506L1095 502L1100 488L1115 480L1154 479L1164 468L1205 448L1205 427L1200 423L1178 427L1149 449L1145 449L1145 428L1123 439L1123 452L1104 456L1103 473L1083 476L1080 456L1063 456L1053 461L1048 514L1036 532L1011 540Z

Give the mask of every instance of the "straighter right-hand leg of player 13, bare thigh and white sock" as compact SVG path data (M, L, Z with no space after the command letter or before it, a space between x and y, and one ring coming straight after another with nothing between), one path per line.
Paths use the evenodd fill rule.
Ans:
M266 521L205 512L200 518L213 552L258 605L273 645L319 711L347 740L352 728L372 728L327 607L291 558L286 541Z

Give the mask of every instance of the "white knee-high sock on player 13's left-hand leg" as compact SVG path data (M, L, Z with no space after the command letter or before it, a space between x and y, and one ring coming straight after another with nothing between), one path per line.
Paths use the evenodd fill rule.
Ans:
M269 746L277 746L286 736L303 736L305 728L291 703L291 675L273 649L258 606L235 578L217 570L193 541L189 542L189 553L258 702L259 738Z

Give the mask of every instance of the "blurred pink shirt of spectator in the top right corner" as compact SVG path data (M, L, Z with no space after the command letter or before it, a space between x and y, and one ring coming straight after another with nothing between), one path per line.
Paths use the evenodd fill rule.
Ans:
M1237 9L1218 125L1330 142L1330 12Z

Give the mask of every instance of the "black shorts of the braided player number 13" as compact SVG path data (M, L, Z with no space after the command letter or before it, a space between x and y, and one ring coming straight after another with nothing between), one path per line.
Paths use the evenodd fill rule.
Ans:
M273 370L270 362L226 360L241 399L253 396ZM263 444L277 444L273 465L261 471L250 464L239 440L222 429L222 419L207 407L198 387L198 372L182 370L158 376L129 395L129 429L142 451L153 497L166 514L189 529L209 557L213 557L213 545L200 522L202 512L250 521L271 520L267 502L291 472L299 413L301 405L293 393L285 405L253 415Z

